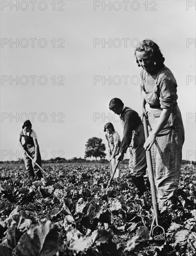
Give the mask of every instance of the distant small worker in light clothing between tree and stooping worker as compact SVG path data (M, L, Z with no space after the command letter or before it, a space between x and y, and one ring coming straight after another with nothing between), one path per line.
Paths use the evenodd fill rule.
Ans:
M120 135L114 130L114 126L112 123L107 123L104 126L104 130L106 139L108 142L108 147L109 147L109 155L110 155L110 161L111 161L111 166L112 170L114 170L118 155L120 152ZM120 162L118 165L118 168L116 169L114 178L120 178Z

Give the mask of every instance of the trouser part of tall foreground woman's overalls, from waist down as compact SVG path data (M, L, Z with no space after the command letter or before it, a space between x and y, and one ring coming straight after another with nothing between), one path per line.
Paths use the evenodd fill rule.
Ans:
M148 113L151 128L156 126L160 109L153 109ZM162 129L154 143L155 182L158 191L158 207L164 210L165 202L177 195L182 161L182 146L184 142L184 128L180 110L173 106L173 113L167 122L167 128ZM153 118L151 118L153 117Z

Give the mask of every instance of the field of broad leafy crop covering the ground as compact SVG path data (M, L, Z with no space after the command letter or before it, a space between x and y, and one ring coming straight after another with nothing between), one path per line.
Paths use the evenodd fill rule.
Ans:
M195 256L196 169L184 166L168 202L165 243L149 238L150 190L139 198L126 165L106 190L107 164L45 164L41 181L1 164L1 256ZM169 224L168 224L169 223Z

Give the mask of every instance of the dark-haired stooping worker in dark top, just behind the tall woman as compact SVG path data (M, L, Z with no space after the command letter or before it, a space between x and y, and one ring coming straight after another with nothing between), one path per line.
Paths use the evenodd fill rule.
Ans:
M145 135L143 123L138 113L132 108L124 107L124 103L118 98L114 98L110 101L109 109L115 114L120 115L120 121L123 127L123 138L118 160L123 160L127 148L132 144L132 181L139 190L139 196L143 195L145 192L144 175L147 168L144 150Z

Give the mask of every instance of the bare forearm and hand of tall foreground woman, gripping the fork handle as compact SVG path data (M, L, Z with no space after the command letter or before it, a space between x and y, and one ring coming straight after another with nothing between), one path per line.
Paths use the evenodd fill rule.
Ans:
M166 123L171 115L171 112L172 112L172 106L169 108L163 108L161 115L158 118L156 126L152 129L151 134L148 136L147 140L144 143L145 150L151 149L153 143L156 140L156 136L166 125Z

